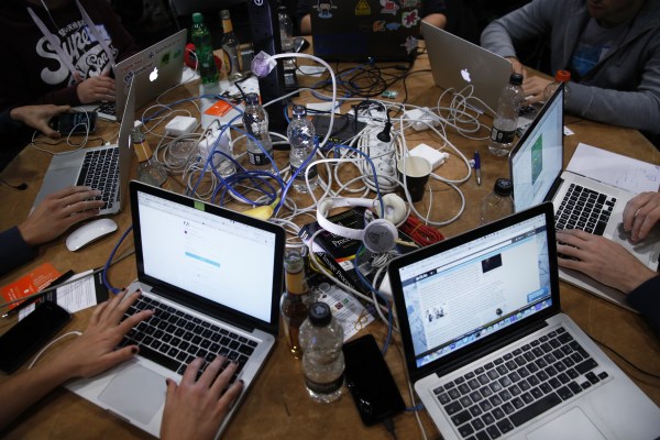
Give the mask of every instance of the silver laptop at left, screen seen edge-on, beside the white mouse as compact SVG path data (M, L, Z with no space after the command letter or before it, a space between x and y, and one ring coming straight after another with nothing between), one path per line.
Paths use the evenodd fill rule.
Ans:
M87 185L102 191L106 202L100 215L118 213L122 209L123 195L131 174L133 146L131 131L135 119L135 87L129 84L128 99L124 101L125 118L119 128L116 145L75 150L53 156L32 210L50 194L72 185Z

